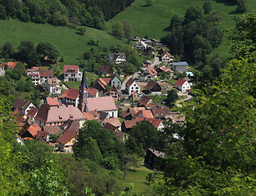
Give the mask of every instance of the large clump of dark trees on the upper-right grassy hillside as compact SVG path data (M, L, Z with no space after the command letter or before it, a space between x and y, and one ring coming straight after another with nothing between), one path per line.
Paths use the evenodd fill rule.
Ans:
M177 15L172 17L170 33L161 42L168 45L173 55L185 55L193 62L208 60L213 48L222 42L222 32L217 27L221 15L209 9L204 7L203 12L198 7L188 7L183 20Z

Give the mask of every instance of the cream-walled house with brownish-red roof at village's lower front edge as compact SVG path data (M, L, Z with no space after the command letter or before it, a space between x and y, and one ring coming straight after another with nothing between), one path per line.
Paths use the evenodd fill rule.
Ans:
M77 139L79 138L79 135L73 131L68 130L65 131L64 134L62 134L57 141L59 142L59 149L64 152L71 152L73 151L73 145L77 142Z

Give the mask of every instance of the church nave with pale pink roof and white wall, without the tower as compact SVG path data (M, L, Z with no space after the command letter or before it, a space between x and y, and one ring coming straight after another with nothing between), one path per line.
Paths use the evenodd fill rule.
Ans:
M85 105L85 112L97 111L97 113L110 114L111 118L117 118L118 108L112 96L88 98Z

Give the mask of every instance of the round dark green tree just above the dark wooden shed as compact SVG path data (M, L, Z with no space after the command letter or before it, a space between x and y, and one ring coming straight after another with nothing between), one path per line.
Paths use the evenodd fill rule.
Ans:
M148 121L137 122L137 125L132 127L130 131L137 144L141 144L143 149L153 148L157 144L158 131Z

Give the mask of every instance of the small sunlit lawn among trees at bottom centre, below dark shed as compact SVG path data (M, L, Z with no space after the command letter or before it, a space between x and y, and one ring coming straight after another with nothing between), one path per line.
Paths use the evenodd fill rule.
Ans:
M138 191L141 193L148 188L148 185L146 184L146 176L153 172L154 171L151 171L146 167L139 167L135 171L128 171L128 174L125 177L125 180L119 179L118 183L123 189L126 186L128 186L130 183L133 183L134 191Z

